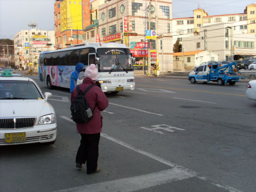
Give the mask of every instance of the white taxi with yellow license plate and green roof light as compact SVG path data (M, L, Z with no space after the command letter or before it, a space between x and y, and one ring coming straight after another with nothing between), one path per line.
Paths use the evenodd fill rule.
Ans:
M0 146L25 143L54 143L57 122L47 102L51 93L42 94L28 77L0 76Z

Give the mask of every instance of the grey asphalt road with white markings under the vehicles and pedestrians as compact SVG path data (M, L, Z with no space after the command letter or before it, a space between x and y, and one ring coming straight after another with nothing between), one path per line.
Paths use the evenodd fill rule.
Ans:
M53 94L57 141L1 147L0 191L255 191L256 102L246 98L247 83L135 82L134 91L107 94L101 172L92 175L75 167L80 135L69 91L38 82Z

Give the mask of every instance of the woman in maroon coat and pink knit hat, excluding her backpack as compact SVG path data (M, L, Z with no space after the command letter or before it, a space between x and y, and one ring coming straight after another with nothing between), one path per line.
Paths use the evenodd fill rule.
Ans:
M101 88L97 86L95 80L98 78L98 69L91 64L85 70L85 78L82 84L79 84L79 90L82 92L90 85L93 86L86 94L85 98L91 109L94 109L93 118L87 123L76 123L77 131L81 134L80 146L76 155L76 167L82 169L82 164L86 162L87 174L98 173L99 141L102 128L102 116L100 111L108 107L108 98ZM76 97L77 90L71 93L71 101Z

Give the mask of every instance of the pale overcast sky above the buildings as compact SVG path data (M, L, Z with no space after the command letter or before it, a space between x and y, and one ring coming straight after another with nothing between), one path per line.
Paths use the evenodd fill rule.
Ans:
M37 23L38 29L54 30L54 2L0 0L0 39L13 39L20 30L29 29L28 23L32 20ZM173 0L172 17L193 17L193 10L198 7L209 15L243 13L246 5L252 3L256 4L256 0Z

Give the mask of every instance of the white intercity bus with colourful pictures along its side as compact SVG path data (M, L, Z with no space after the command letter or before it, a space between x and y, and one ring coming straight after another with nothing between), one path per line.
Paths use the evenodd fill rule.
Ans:
M119 43L82 43L67 49L41 52L39 79L49 89L53 86L70 88L70 76L78 62L97 66L97 81L103 92L134 90L135 58L132 58L129 47Z

